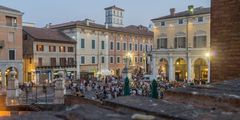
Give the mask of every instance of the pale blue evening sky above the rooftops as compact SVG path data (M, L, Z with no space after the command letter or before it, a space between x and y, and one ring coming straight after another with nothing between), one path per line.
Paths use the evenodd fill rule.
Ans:
M211 0L0 0L0 5L20 10L23 21L43 27L48 23L95 20L105 23L104 8L116 5L123 8L124 25L151 24L151 19L168 15L170 8L184 11L188 5L209 7Z

